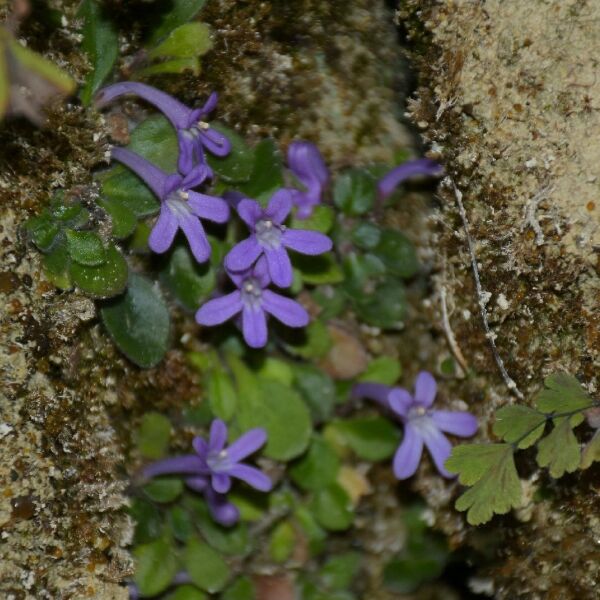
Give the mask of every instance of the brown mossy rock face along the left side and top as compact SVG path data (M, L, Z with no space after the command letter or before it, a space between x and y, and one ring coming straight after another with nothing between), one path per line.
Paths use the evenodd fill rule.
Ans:
M51 33L36 13L20 33L81 81L89 65L78 45L78 4L51 3L64 15ZM110 9L131 24L128 3ZM219 117L244 135L269 133L284 144L307 137L338 166L391 162L405 148L402 62L383 3L210 0L201 18L216 43L202 79L152 83L191 103L217 89ZM122 31L132 53L136 32ZM126 61L121 71L127 77ZM45 129L1 127L0 596L119 600L131 574L122 463L132 414L187 401L197 389L176 351L144 373L120 358L93 302L47 283L23 239L21 225L55 190L94 215L91 171L106 164L106 123L73 102L54 107Z

